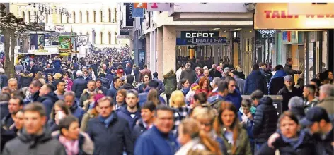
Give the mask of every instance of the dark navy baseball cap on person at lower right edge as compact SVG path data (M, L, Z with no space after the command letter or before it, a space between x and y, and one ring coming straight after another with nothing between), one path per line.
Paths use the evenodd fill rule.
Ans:
M320 120L322 119L326 120L326 122L330 122L326 110L319 106L315 106L309 109L309 111L307 111L306 116L303 119L301 119L300 123L303 126L309 126L315 122L320 122Z

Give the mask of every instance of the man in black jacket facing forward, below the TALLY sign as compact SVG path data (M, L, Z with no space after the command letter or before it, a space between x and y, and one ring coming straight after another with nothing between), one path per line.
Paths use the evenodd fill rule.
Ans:
M282 111L287 111L289 107L287 106L289 103L289 99L292 97L302 97L303 94L300 89L296 89L293 85L294 78L291 75L287 75L284 77L284 87L278 91L277 95L282 95Z

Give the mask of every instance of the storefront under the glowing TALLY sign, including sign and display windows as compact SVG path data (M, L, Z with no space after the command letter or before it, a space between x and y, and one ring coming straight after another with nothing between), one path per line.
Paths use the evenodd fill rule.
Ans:
M299 11L288 14L290 8L289 4L257 4L254 29L277 30L271 39L260 44L257 40L257 49L264 48L262 53L258 51L258 56L265 57L260 58L262 61L272 62L271 67L284 66L287 58L292 58L292 68L304 70L305 82L309 82L316 73L327 70L329 61L333 61L328 58L328 29L334 27L334 15L312 11L309 15L298 14ZM300 77L295 75L295 82Z

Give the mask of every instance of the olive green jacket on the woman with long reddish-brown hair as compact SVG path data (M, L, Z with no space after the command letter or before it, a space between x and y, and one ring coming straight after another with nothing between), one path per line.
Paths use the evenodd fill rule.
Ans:
M248 139L247 131L243 128L239 129L238 138L236 142L236 152L232 154L232 144L226 139L225 130L221 128L221 139L223 139L224 144L229 155L252 155L252 149L250 147L250 140Z

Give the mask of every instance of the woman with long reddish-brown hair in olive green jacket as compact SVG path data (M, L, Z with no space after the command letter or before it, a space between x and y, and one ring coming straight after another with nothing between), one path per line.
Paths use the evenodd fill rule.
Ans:
M223 139L229 155L252 154L247 131L241 127L238 110L231 102L221 102L218 117L214 120L214 130Z

